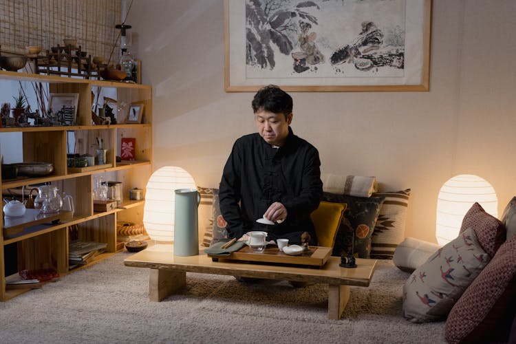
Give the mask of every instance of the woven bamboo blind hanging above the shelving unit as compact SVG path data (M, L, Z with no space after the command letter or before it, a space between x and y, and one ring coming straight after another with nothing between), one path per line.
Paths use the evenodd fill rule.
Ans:
M77 39L83 51L107 61L120 43L121 7L121 0L0 0L1 51L26 54L37 45L45 52Z

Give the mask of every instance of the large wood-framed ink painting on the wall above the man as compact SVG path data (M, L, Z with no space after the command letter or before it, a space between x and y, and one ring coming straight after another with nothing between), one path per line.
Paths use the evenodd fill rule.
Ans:
M431 0L224 0L226 92L428 91Z

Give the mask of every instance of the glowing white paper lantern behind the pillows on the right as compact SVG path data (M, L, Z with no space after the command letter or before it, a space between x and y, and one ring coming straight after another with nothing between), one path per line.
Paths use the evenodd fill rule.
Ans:
M444 183L437 199L438 244L445 245L459 235L462 219L475 202L487 213L498 216L495 189L486 180L477 175L462 174Z

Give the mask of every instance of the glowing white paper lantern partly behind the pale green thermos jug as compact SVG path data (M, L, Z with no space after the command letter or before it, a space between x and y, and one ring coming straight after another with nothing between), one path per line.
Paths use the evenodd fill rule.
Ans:
M176 189L196 189L192 176L176 166L164 166L152 173L147 182L143 224L156 241L173 241Z

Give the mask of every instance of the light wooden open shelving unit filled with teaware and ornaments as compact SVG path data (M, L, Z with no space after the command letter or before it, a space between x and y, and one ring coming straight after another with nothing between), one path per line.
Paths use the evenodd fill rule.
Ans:
M144 189L152 173L152 89L148 85L119 83L105 80L87 80L60 76L42 76L0 71L0 83L6 80L21 80L31 83L47 84L51 93L78 93L78 111L75 126L66 127L7 127L0 128L0 136L5 133L20 133L23 142L23 156L19 162L52 162L52 174L40 178L21 177L2 180L0 189L19 189L21 186L34 186L50 182L60 191L72 195L75 213L64 222L52 224L27 223L17 227L14 235L6 230L3 216L0 217L0 301L7 301L31 289L6 289L6 261L17 260L17 269L54 268L59 275L69 272L68 243L69 227L78 226L78 237L85 241L98 241L107 244L107 252L94 262L109 257L116 252L116 224L119 221L142 223L144 200L130 201L129 190L135 187ZM124 124L127 114L118 114L116 125L92 125L92 92L99 88L110 89L116 93L118 103L143 103L142 124ZM15 92L15 91L14 91ZM67 168L67 133L74 132L77 153L95 155L97 138L102 138L107 152L107 163L97 169ZM121 138L136 138L136 160L116 162L120 155ZM0 147L1 150L9 147ZM80 151L79 151L80 150ZM124 202L113 211L94 212L94 178L105 173L122 182ZM8 234L8 235L6 235ZM16 246L6 252L6 246ZM80 268L79 268L80 269ZM43 287L44 288L44 287Z

